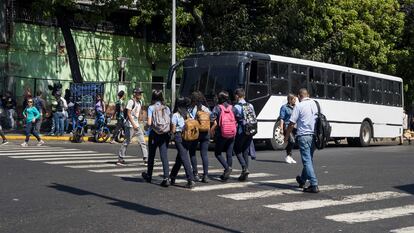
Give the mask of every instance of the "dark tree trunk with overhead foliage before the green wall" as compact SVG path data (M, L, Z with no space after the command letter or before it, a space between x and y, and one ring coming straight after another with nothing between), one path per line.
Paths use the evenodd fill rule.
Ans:
M90 2L90 11L87 12L80 11L76 0L33 0L32 2L36 12L44 17L56 18L57 25L65 40L72 80L75 83L83 82L83 78L79 69L76 44L71 32L71 22L76 18L97 23L121 6L130 6L133 0L93 0Z

